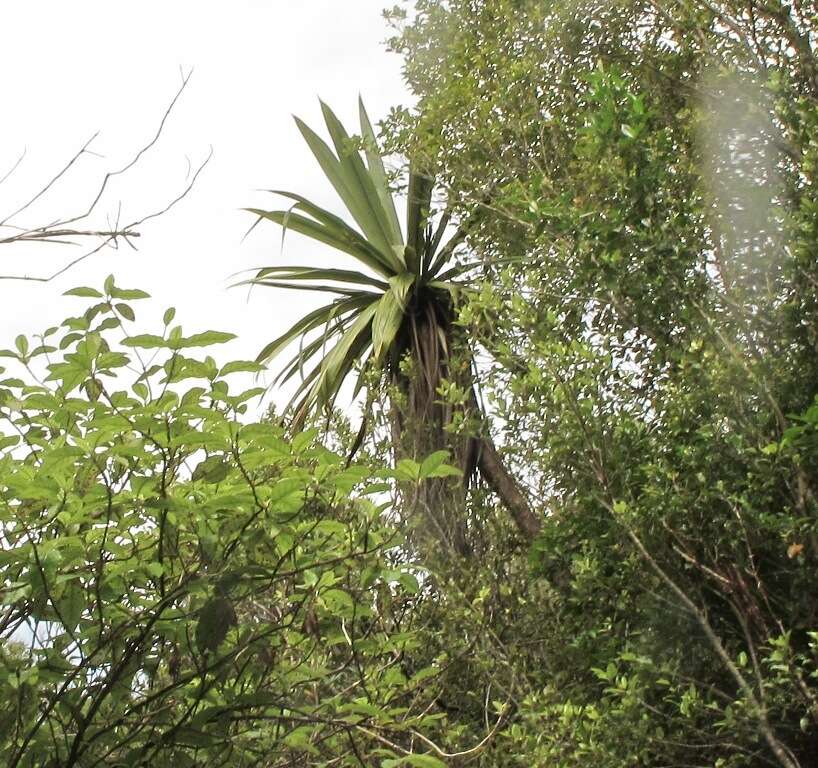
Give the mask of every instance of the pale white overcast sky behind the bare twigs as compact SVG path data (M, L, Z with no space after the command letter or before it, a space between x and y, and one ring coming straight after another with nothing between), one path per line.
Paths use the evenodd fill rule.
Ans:
M77 285L117 284L153 296L138 311L138 332L156 332L165 307L177 309L185 333L238 334L222 359L252 359L286 330L313 299L270 289L229 288L239 270L274 263L325 261L297 235L281 252L280 230L260 226L240 208L275 207L259 189L297 191L341 212L301 139L292 115L321 128L318 97L351 130L362 94L377 121L411 103L401 61L386 50L385 0L62 0L8 2L0 120L0 219L42 188L95 132L84 156L19 224L38 225L87 206L106 171L148 141L193 70L160 140L139 165L115 179L95 226L120 210L123 220L163 207L212 147L213 157L191 193L140 228L127 246L102 251L47 284L0 281L0 348L76 314L82 300L61 294ZM0 273L47 275L82 251L0 246ZM139 307L136 307L140 310Z

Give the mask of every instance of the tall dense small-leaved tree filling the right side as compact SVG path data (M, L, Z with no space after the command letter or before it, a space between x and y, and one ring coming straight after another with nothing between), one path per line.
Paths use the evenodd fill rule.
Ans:
M436 615L443 646L502 640L451 682L470 702L452 728L474 735L486 691L514 692L485 765L791 767L818 749L814 18L392 14L418 109L393 113L390 146L455 214L482 211L485 282L458 322L548 510L527 579L491 528L470 573L485 613Z

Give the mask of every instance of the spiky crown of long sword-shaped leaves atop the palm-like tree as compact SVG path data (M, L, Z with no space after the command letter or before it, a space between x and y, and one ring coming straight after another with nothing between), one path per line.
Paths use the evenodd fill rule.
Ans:
M361 148L353 143L332 110L326 104L321 106L334 152L297 119L298 127L360 232L291 192L275 192L295 201L289 210L249 209L259 220L268 219L281 225L285 232L292 229L306 235L351 256L364 268L353 271L271 266L260 269L248 281L274 288L339 294L330 304L310 312L270 342L258 357L260 361L269 360L294 340L320 331L310 343L299 347L278 378L284 383L298 373L303 374L310 361L319 358L315 367L302 375L293 398L294 401L301 398L296 410L297 423L303 422L311 407L331 405L344 379L356 368L374 365L397 374L398 365L409 350L421 366L419 376L437 380L439 369L451 353L448 337L452 297L462 291L452 278L464 271L462 266L450 263L462 234L442 245L448 217L432 228L433 180L417 169L410 173L404 238L363 103L360 119L366 164ZM364 384L364 373L362 370L358 378L356 395ZM435 387L431 390L433 397Z

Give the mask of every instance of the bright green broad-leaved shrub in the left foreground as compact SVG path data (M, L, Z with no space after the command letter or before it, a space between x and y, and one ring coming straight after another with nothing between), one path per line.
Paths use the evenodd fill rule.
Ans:
M247 419L257 366L199 352L229 334L69 293L89 309L1 353L3 764L443 765L377 478Z

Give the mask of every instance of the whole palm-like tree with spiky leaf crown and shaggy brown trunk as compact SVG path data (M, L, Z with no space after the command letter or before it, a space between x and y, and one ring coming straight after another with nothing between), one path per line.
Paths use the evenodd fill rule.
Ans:
M358 229L291 192L275 191L292 201L286 210L248 210L258 216L256 223L269 219L285 230L299 232L352 257L360 269L306 266L260 269L247 282L330 292L336 297L271 341L258 358L263 362L271 360L293 341L301 340L277 378L278 383L284 383L301 374L291 402L296 426L311 411L331 405L353 372L358 374L354 390L357 395L367 371L374 367L403 396L402 409L392 409L396 455L452 450L456 448L454 438L445 429L451 421L452 409L439 400L441 381L457 380L469 393L464 408L479 415L468 345L454 324L456 297L468 287L464 279L466 268L453 260L455 249L466 239L465 230L461 227L444 243L449 217L443 215L434 227L430 222L433 180L410 170L404 237L363 103L360 104L363 148L347 134L332 110L323 103L321 106L334 151L301 120L296 118L296 122ZM455 347L465 351L465 365L457 370L452 367ZM411 374L401 368L407 356ZM425 435L421 441L417 440L419 428ZM405 439L410 430L415 435L412 447ZM528 537L533 536L539 521L491 440L473 436L461 443L453 453L463 469L467 474L471 468L479 469L512 512L520 530ZM450 530L440 531L441 535L455 549L464 549L462 535L452 535L451 526L439 527L448 527Z

